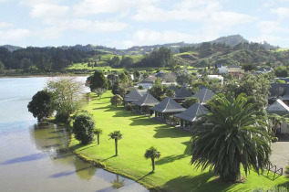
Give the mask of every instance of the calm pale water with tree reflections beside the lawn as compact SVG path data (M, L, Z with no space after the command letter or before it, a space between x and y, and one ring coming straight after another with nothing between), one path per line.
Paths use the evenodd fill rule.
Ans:
M37 124L26 106L45 83L0 79L0 191L147 191L71 154L64 127Z

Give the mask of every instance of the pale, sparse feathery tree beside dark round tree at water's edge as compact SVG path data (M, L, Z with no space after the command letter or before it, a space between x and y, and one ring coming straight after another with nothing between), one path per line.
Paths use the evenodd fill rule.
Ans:
M47 90L55 97L57 119L62 120L63 123L67 122L70 114L85 104L84 85L76 77L58 77L48 80Z

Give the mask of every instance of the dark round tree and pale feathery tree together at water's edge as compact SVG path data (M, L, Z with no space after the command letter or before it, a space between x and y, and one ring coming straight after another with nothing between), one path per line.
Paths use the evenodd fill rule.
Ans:
M46 89L38 91L27 105L28 111L39 122L50 117L54 112L56 120L67 123L70 115L85 103L83 84L75 77L58 77L47 81Z

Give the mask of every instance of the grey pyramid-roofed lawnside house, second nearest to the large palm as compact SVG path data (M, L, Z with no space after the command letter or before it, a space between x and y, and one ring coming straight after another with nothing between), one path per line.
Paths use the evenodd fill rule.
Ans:
M183 108L178 102L167 97L163 101L160 101L158 105L151 107L150 110L155 112L156 118L166 122L169 120L170 115L183 112L186 109Z

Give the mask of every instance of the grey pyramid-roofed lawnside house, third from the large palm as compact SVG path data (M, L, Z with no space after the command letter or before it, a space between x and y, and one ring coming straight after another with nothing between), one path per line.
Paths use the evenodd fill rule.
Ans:
M150 107L160 103L149 92L145 93L138 101L133 101L133 104L138 106L138 111L150 115Z

